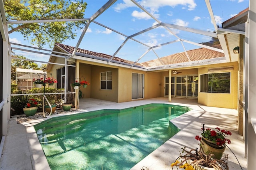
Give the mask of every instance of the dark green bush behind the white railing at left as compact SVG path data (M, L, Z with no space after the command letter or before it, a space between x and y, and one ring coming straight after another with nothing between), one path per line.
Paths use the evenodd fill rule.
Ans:
M63 93L64 89L54 89L54 88L45 88L45 93ZM32 88L26 91L16 91L15 94L36 94L44 93L44 88ZM49 103L51 105L61 103L61 94L52 94L46 95ZM21 95L21 96L11 96L11 116L13 115L22 115L24 114L23 108L26 105L28 99L35 99L38 102L37 112L42 112L42 100L43 95ZM48 105L45 101L44 105ZM58 105L59 107L59 105Z

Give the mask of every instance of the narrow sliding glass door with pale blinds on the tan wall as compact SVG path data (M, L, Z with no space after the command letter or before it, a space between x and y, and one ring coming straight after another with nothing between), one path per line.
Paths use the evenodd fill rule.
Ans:
M132 99L141 99L144 97L144 75L132 73Z

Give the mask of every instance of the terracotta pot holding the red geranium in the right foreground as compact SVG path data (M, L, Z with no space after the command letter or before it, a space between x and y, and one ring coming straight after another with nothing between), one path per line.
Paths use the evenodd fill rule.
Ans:
M208 143L206 140L204 140L202 138L201 142L201 146L202 146L202 150L204 151L205 154L209 154L212 153L215 155L216 159L221 159L223 152L226 149L226 145L223 145L221 147L218 146L213 146L212 144Z

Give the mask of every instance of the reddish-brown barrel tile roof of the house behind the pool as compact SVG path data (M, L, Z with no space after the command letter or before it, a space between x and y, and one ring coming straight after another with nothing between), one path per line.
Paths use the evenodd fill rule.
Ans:
M69 46L69 45L64 45L61 43L56 43L56 45L58 45L59 47L61 47L62 49L64 49L65 51L67 51L68 53L72 53L74 51L74 47ZM220 48L220 45L216 45L216 48ZM83 57L89 57L89 56L84 56L82 54L87 54L87 55L91 55L92 57L95 56L97 57L97 59L99 60L104 60L106 61L106 59L110 59L112 56L111 55L107 55L104 53L97 53L94 51L88 51L86 49L80 49L78 48L77 50L78 53L76 53L76 55L79 55L79 53L81 53L80 56ZM214 58L218 58L218 57L224 57L224 53L218 52L218 51L214 51L211 49L207 49L207 48L198 48L198 49L192 49L192 50L188 50L187 51L188 56L190 58L190 61L200 61L200 60L205 60L205 59L214 59ZM100 59L102 58L102 59ZM170 64L177 64L177 63L185 63L185 62L189 62L189 59L186 55L185 52L181 52L181 53L176 53L176 54L172 54L172 55L168 55L165 57L161 57L160 58L162 60L162 62L159 61L159 59L154 59L151 61L146 61L143 63L136 63L136 66L139 67L157 67L157 66L161 66L161 65L170 65ZM114 57L113 61L118 61L121 63L126 63L126 64L133 64L134 61L129 61L126 59L121 59L119 57ZM162 64L163 63L163 64Z

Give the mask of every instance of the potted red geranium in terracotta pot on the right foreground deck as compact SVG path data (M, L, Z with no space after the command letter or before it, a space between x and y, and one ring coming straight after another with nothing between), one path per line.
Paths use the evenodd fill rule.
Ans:
M204 124L202 125L202 137L196 135L195 139L200 141L202 149L206 154L212 153L217 159L220 159L225 151L225 144L231 143L227 136L231 135L232 133L224 129L221 130L218 127L215 128L216 130L212 130L210 128L205 129Z

